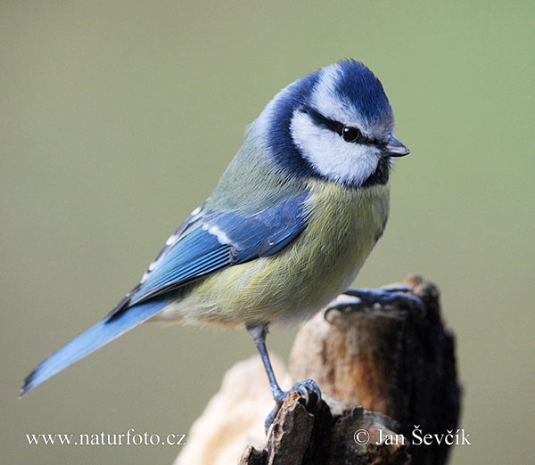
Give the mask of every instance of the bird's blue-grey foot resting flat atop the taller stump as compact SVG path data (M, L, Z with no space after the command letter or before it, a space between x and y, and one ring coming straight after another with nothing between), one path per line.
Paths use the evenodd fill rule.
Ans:
M346 290L345 295L354 297L352 301L340 302L330 306L325 311L325 316L331 310L344 311L348 308L352 310L359 310L361 308L371 308L374 304L382 306L397 305L405 306L409 309L417 308L423 309L424 303L422 300L410 292L412 288L407 286L392 286L380 289L352 289Z

